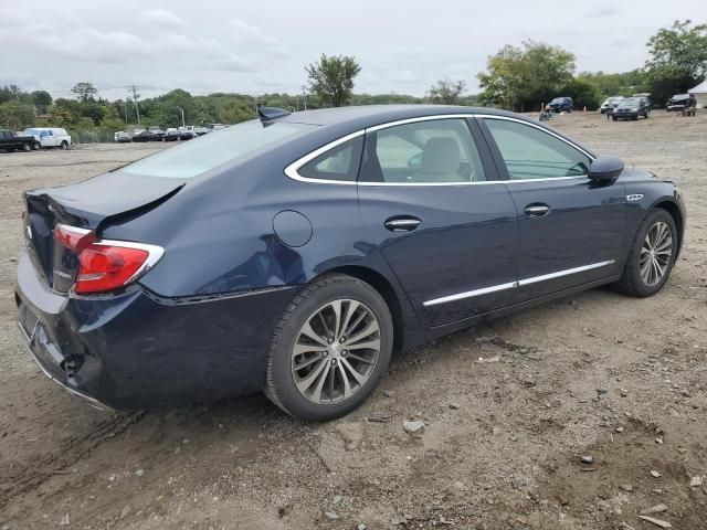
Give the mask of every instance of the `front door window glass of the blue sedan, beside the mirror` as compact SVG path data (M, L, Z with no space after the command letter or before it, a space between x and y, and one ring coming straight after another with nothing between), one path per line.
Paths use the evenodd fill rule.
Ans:
M510 180L579 177L589 173L591 159L566 141L530 125L485 119Z

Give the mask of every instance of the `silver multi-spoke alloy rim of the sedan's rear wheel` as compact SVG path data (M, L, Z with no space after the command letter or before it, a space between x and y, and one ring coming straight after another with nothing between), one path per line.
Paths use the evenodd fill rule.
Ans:
M297 335L292 351L295 385L317 404L346 401L370 379L380 349L380 326L366 304L330 301L317 309Z

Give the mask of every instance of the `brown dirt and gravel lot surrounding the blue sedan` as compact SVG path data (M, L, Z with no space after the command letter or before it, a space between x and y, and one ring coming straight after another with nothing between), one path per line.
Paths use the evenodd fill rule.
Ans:
M679 184L666 288L591 290L400 354L363 407L316 425L260 395L109 414L49 381L15 325L20 191L161 146L0 155L0 529L639 530L659 528L639 518L656 505L706 529L707 116L552 125Z

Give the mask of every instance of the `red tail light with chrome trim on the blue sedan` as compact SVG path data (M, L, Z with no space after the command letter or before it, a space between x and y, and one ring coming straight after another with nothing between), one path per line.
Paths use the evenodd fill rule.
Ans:
M74 290L78 294L105 293L124 287L151 268L163 250L155 245L125 241L96 241L95 232L57 225L56 240L78 254Z

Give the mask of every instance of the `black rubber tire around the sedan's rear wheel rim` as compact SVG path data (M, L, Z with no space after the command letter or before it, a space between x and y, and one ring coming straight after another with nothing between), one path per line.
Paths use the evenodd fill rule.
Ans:
M328 303L338 299L357 300L372 312L379 326L380 351L368 379L352 395L336 403L315 403L305 398L296 386L292 367L293 347L303 326L313 315ZM351 276L321 276L293 298L275 328L266 361L264 393L275 405L300 420L326 422L337 418L361 405L378 386L388 371L392 347L392 317L381 295L369 284Z

